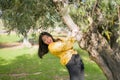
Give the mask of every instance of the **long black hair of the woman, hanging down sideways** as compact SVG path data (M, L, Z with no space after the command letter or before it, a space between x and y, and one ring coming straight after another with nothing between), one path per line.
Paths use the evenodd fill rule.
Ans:
M42 37L43 37L44 35L50 36L50 37L53 39L53 41L55 41L54 38L52 37L52 35L51 35L50 33L48 33L48 32L42 32L42 33L39 35L38 56L39 56L40 58L42 58L43 55L45 55L45 54L48 53L48 45L45 44L45 43L43 42L43 40L42 40Z

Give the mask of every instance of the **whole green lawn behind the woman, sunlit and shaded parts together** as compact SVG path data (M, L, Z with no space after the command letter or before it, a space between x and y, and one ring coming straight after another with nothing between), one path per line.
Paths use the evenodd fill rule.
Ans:
M18 39L16 39L16 41L18 41ZM12 41L14 42L15 40ZM74 48L78 50L84 61L85 80L107 80L99 67L89 59L85 51L79 49L77 44L75 44ZM58 58L47 54L41 60L37 56L37 48L32 47L0 49L0 80L69 79L65 66L59 63Z

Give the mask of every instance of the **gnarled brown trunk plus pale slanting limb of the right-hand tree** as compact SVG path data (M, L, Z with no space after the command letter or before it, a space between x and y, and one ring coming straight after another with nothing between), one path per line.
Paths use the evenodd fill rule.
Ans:
M63 1L53 0L60 13L63 7L60 7L59 3L63 3ZM61 16L64 23L71 30L79 30L68 13ZM113 40L111 47L107 40L98 32L97 26L93 24L90 25L88 32L77 33L77 36L82 36L78 42L79 46L88 51L90 58L99 65L107 79L120 80L120 46L116 43L116 40ZM113 39L116 37L117 35L113 35Z

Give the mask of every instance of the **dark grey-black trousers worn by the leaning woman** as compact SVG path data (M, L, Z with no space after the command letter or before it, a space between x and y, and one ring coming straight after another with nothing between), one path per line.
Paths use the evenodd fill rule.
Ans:
M84 64L79 54L72 55L66 67L70 74L70 80L84 80Z

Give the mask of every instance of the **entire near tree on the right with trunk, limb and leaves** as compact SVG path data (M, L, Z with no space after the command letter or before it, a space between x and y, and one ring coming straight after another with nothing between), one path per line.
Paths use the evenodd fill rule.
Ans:
M53 0L78 44L108 80L120 79L120 1Z

